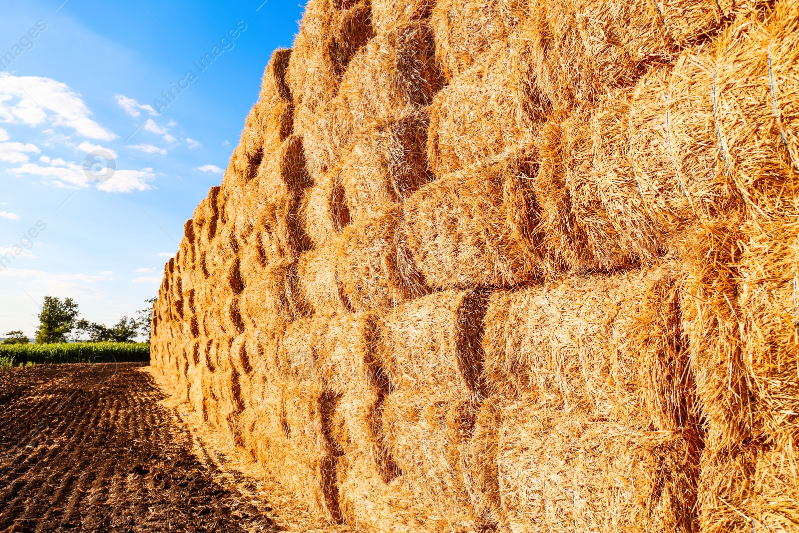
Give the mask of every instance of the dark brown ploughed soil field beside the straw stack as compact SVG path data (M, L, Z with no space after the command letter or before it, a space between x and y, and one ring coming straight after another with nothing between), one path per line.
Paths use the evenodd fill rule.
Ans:
M279 529L267 503L197 459L138 367L0 371L0 532Z

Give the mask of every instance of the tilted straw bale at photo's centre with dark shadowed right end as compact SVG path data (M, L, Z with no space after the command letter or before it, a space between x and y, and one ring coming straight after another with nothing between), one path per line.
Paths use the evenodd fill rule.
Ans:
M556 272L530 186L537 165L507 156L433 181L404 204L403 239L435 288L513 286Z

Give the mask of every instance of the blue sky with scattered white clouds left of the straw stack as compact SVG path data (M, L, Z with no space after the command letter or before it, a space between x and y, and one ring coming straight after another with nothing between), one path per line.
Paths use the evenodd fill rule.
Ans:
M109 325L156 296L303 10L296 0L62 2L2 2L0 336L33 336L46 295ZM208 53L218 56L201 71ZM97 149L115 161L108 181L84 172Z

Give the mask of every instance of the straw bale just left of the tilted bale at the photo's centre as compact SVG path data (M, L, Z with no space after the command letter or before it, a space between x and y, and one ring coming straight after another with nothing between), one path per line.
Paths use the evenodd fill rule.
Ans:
M353 310L393 307L427 293L399 231L401 217L394 206L349 225L333 242L336 269Z

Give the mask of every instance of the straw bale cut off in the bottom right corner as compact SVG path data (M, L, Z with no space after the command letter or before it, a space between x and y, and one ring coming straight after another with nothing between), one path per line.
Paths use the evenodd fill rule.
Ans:
M698 499L706 533L797 531L796 452L755 443L706 450Z

